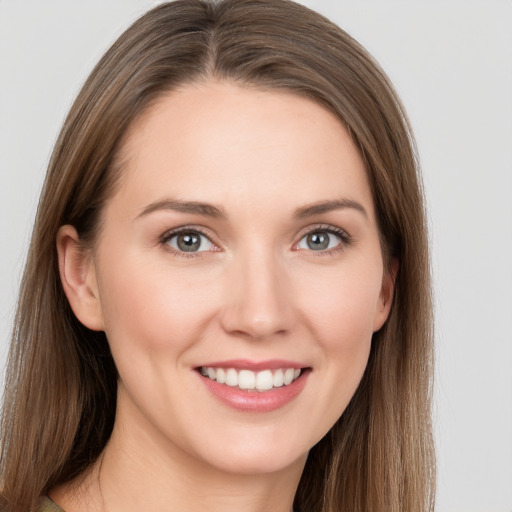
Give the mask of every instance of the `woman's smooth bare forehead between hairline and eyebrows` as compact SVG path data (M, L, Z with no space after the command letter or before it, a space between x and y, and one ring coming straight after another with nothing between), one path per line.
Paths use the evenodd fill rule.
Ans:
M372 210L364 163L341 121L287 92L215 82L166 93L132 124L120 161L120 192L139 201L167 194L295 208L355 194Z

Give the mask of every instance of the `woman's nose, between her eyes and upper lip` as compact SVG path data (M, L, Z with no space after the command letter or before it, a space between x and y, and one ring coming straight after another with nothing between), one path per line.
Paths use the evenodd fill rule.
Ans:
M241 256L227 275L221 322L230 334L264 339L294 324L292 291L283 262L262 251Z

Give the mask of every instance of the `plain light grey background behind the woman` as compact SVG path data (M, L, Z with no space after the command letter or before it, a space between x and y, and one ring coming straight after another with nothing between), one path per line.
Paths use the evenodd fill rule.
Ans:
M0 363L63 117L148 0L0 0ZM431 220L438 512L512 511L512 2L304 1L381 62Z

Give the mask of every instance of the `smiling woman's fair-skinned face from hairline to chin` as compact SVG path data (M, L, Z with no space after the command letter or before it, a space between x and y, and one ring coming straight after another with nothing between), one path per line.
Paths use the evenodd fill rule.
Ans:
M134 123L120 162L89 267L118 431L230 472L303 463L392 295L347 131L299 96L190 85Z

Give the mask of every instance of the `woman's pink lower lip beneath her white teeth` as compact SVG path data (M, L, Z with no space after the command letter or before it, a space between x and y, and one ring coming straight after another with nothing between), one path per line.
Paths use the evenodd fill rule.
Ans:
M270 412L291 402L304 389L309 373L309 371L303 370L301 375L288 386L269 391L246 391L238 387L219 384L200 373L198 375L208 391L231 408L245 412Z

